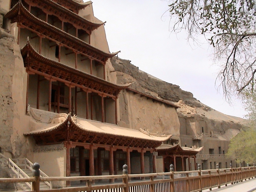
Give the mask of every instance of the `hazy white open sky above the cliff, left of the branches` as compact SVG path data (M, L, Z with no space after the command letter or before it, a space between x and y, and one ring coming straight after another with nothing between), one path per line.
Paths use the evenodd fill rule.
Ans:
M207 42L189 45L185 33L170 33L167 9L168 1L162 0L93 0L94 15L106 21L110 52L121 50L118 57L140 70L180 86L215 110L243 117L240 101L230 106L217 93L218 67L212 65Z

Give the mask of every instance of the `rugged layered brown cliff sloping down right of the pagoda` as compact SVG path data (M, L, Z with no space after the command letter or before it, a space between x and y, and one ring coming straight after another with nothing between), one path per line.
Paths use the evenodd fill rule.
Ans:
M132 82L131 89L164 99L180 107L177 109L180 121L179 133L177 134L177 129L168 130L167 133L173 131L175 135L193 136L201 134L203 131L204 133L219 134L219 139L230 140L239 132L237 130L240 130L242 124L245 124L245 120L242 118L223 114L204 105L194 98L192 93L181 90L179 86L140 71L129 60L113 57L111 63L117 72L117 83ZM158 113L156 112L156 114ZM158 118L162 119L162 116L158 114Z

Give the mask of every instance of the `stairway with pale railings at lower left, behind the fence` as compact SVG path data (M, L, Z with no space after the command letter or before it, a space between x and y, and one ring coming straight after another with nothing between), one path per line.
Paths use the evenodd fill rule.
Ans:
M8 169L9 176L12 178L30 178L32 177L32 165L27 158L10 159L0 153L0 166ZM42 170L40 177L48 177ZM20 182L19 186L24 191L32 191L32 182ZM51 181L40 182L40 189L52 189Z

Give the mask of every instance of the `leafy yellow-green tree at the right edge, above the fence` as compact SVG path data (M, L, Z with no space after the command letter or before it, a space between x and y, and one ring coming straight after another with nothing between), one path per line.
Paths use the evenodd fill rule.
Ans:
M236 161L256 162L256 96L252 92L245 93L245 109L248 111L248 125L230 141L227 156Z

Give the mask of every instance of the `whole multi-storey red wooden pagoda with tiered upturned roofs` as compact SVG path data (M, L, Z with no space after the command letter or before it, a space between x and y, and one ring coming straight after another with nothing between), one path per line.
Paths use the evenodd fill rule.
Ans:
M16 30L27 72L26 108L34 123L25 135L37 144L34 160L55 161L46 152L64 147L64 170L50 176L117 174L124 163L131 173L131 158L133 170L138 171L140 158L145 173L144 155L147 172L150 167L156 172L152 152L171 135L116 125L118 94L129 84L107 81L106 62L118 52L99 49L97 30L104 22L90 20L90 6L91 1L12 0L5 15Z

